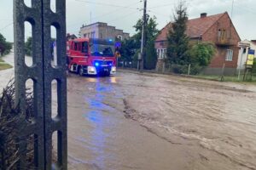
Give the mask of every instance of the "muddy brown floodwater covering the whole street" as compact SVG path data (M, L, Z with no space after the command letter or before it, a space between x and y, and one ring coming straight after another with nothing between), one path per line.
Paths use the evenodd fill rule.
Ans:
M68 169L256 169L256 86L119 71L67 88Z

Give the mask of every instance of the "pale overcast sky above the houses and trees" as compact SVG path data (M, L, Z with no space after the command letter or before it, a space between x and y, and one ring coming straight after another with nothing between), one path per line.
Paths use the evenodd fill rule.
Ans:
M198 18L204 12L211 15L227 11L231 17L232 1L188 0L189 19ZM13 41L12 2L12 0L0 0L0 32L10 42ZM177 0L148 0L148 14L156 16L158 28L161 29L172 19L176 5ZM55 8L54 3L51 7ZM132 26L143 15L141 8L143 2L140 0L67 0L67 32L78 34L83 24L101 21L132 35L135 33ZM242 40L256 39L255 8L255 0L234 1L232 20ZM26 36L29 36L30 32L26 29Z

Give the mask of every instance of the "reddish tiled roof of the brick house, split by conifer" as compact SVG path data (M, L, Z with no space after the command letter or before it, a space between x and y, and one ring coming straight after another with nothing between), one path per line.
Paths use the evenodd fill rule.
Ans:
M189 37L201 37L214 23L216 23L224 14L214 14L204 18L197 18L188 20L186 34ZM156 41L166 41L168 28L172 26L172 23L169 23L164 27L160 35L156 38Z

